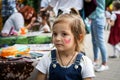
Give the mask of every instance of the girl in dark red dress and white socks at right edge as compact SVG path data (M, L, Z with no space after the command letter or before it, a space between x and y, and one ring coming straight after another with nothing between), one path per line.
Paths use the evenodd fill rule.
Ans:
M112 26L110 29L110 35L108 43L114 48L114 54L109 56L110 58L117 57L117 51L120 53L120 1L113 2L113 12L109 24Z

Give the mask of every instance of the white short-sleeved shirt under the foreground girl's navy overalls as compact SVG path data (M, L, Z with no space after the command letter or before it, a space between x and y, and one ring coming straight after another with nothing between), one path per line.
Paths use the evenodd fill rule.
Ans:
M36 69L41 71L43 74L49 74L49 67L51 63L51 54L43 56L40 62L37 64ZM82 67L82 77L95 77L92 61L87 56L82 56L80 65Z

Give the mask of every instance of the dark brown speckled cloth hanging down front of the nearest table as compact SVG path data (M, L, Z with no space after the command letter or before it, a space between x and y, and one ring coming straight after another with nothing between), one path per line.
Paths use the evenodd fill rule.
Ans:
M16 59L0 57L0 80L33 80L36 62L28 57Z

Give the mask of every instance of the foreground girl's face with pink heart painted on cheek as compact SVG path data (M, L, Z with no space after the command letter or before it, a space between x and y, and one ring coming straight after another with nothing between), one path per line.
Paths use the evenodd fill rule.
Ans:
M55 24L52 37L58 51L75 50L74 35L68 23Z

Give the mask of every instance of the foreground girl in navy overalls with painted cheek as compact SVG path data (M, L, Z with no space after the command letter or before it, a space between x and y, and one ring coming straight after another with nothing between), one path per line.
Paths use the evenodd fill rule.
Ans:
M61 14L52 27L56 47L36 66L37 80L92 80L92 61L82 54L85 37L84 23L75 9Z

